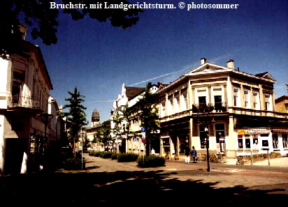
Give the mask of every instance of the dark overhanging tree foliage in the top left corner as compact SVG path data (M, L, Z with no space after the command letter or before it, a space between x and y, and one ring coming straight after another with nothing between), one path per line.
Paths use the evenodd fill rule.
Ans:
M143 13L143 9L105 9L89 8L90 3L102 3L104 1L92 0L62 0L57 3L72 3L77 4L79 8L50 8L51 0L9 0L1 1L0 6L0 55L3 59L8 59L11 54L27 55L27 48L23 47L20 33L20 22L24 22L31 28L31 36L35 40L41 38L45 45L57 43L57 30L59 23L57 17L59 10L69 14L72 20L83 19L86 15L99 22L110 21L113 26L126 29L129 26L136 24L139 20L138 14ZM110 3L129 3L127 0L105 0ZM79 6L86 4L87 8ZM12 32L11 32L12 31Z

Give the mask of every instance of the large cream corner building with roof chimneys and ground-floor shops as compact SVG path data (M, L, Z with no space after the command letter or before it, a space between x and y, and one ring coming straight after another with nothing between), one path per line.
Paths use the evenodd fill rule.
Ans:
M161 155L184 155L185 141L199 156L209 153L236 158L255 153L287 154L287 113L275 111L275 79L234 69L234 61L218 66L201 59L201 66L160 89ZM247 150L245 152L245 150Z

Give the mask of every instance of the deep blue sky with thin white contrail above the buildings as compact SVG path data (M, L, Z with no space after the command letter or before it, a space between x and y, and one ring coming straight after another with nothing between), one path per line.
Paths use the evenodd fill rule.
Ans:
M146 3L178 3L157 0ZM137 1L131 1L134 3ZM143 1L138 1L142 3ZM95 1L96 3L96 1ZM236 68L256 74L270 72L275 79L276 98L287 95L288 1L213 0L194 3L238 3L237 9L146 9L129 29L115 28L86 17L73 21L59 15L57 45L31 40L43 51L59 105L67 91L77 86L85 95L89 120L99 109L101 122L110 116L112 100L123 83L172 82L183 72L200 65L200 59L226 66L230 58ZM61 11L62 12L62 11ZM170 74L170 75L166 75Z

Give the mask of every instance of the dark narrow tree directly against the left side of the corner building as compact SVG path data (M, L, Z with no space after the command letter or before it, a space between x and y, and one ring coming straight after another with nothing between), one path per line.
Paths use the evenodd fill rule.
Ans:
M142 98L138 101L137 106L134 110L136 119L141 121L141 127L145 128L145 138L146 138L146 146L148 150L146 150L146 155L150 155L150 141L152 139L159 139L159 137L155 137L154 133L156 130L159 129L159 116L158 116L158 109L157 103L159 99L157 98L156 93L151 93L152 85L149 83L146 85L145 93L143 93Z

